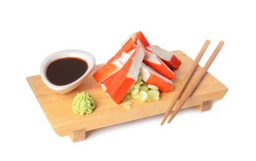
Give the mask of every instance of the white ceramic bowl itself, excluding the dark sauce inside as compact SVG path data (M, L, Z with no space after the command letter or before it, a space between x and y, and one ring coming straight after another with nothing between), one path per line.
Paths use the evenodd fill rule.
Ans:
M68 58L68 57L84 59L88 64L87 71L85 72L85 74L83 74L83 76L81 76L75 82L71 82L70 84L67 84L67 85L52 84L52 82L50 82L47 79L46 72L47 72L48 65L52 63L52 61L55 61L56 59ZM78 87L85 81L86 77L93 70L94 66L95 66L95 58L93 54L90 54L82 50L62 50L62 51L57 51L55 53L52 53L49 56L47 56L47 58L43 59L40 65L40 75L42 77L42 81L45 83L45 85L47 85L47 87L49 87L52 90L55 90L60 94L67 94L72 90L75 90L76 87Z

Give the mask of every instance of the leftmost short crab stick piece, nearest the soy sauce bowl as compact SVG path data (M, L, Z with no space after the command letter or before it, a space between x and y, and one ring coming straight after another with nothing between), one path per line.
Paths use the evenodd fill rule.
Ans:
M93 74L93 78L97 83L101 83L107 77L116 73L122 68L123 64L119 61L119 59L115 59L111 63L107 63L104 66L101 66L96 72Z

